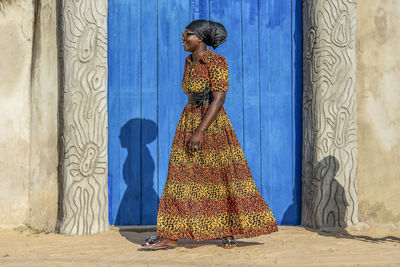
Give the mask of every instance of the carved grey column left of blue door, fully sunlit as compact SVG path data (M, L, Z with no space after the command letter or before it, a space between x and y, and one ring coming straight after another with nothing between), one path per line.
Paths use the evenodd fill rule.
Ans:
M57 231L108 230L107 0L58 0L60 170Z

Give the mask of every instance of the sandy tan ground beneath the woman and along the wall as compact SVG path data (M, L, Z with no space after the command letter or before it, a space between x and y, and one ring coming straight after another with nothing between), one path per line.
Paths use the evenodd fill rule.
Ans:
M154 233L112 230L63 236L0 230L0 266L400 266L400 231L336 230L301 226L223 249L219 241L179 240L173 250L140 251Z

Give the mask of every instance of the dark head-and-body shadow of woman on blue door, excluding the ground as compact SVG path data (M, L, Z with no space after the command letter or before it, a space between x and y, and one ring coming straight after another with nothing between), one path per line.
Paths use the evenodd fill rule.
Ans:
M149 199L152 203L159 201L154 190L155 164L147 147L156 137L157 125L151 120L131 119L121 128L121 147L128 152L122 169L127 188L118 208L116 225L142 224L143 212L146 212L142 203Z

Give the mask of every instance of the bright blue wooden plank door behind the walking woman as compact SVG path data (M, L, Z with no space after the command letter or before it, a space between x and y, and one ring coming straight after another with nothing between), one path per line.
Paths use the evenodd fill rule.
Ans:
M108 15L109 211L113 225L156 224L181 89L181 32L225 25L225 109L278 224L300 224L301 0L115 0Z

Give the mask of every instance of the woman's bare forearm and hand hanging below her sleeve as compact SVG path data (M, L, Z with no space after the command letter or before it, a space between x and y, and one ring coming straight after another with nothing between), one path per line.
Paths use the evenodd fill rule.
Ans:
M200 148L201 141L203 139L203 133L207 130L211 123L213 123L218 115L219 110L225 103L226 92L212 92L212 94L214 99L208 106L207 112L204 115L199 127L197 127L196 131L189 140L188 148L191 152L195 152Z

